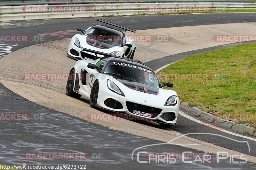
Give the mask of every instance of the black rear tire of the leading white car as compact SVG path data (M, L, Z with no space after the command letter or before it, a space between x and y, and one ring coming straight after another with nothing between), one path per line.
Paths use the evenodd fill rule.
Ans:
M70 73L68 74L68 82L67 82L67 86L66 86L66 95L70 96L70 97L74 97L76 99L79 99L81 97L80 94L74 92L73 88L74 88L74 83L75 83L75 70L72 69L70 71ZM76 80L79 81L79 80Z

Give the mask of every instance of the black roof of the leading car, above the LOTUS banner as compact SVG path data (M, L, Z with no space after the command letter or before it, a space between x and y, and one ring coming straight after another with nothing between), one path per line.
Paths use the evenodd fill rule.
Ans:
M124 58L124 57L104 56L104 57L101 57L100 59L101 60L105 60L107 62L111 62L111 61L125 62L125 63L129 63L129 64L132 64L132 65L135 65L135 66L138 66L138 67L143 67L143 68L146 68L148 70L153 71L151 68L149 68L145 64L142 64L140 61L132 60L132 59L127 59L127 58Z

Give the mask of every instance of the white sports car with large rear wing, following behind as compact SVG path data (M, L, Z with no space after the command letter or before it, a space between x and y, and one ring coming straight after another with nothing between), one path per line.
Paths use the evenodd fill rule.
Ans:
M68 47L68 57L91 61L102 57L101 55L96 56L94 53L81 51L81 49L87 48L133 59L136 50L134 39L119 30L108 27L107 24L124 29L125 32L131 31L135 33L136 31L102 19L97 19L97 21L106 25L90 26L85 31L77 28L77 31L82 32L82 34L76 34L72 37Z

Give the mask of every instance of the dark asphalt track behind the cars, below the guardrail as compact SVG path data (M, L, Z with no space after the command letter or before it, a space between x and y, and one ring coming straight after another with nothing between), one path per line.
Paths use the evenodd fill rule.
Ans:
M77 27L86 29L89 26L102 24L96 21L97 18L78 18L78 19L52 19L36 21L15 21L8 22L13 25L0 26L2 35L30 35L66 30L76 30ZM127 16L127 17L107 17L113 23L126 26L135 30L146 30L154 28L169 28L178 26L211 25L256 22L256 13L209 13L209 14L189 14L189 15L155 15L155 16ZM46 34L44 41L52 41L63 38L70 38L77 32L61 34L59 36ZM38 42L20 42L13 50L26 46L35 45ZM40 42L39 42L40 43ZM7 43L6 43L7 44ZM12 43L15 44L15 43ZM68 47L67 47L68 48Z

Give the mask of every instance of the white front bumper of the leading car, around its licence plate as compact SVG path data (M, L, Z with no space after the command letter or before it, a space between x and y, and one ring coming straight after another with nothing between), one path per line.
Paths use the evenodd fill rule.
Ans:
M114 112L124 112L124 113L132 115L134 117L140 117L142 119L157 121L157 122L161 122L161 123L176 124L178 113L179 113L179 108L180 108L179 98L177 100L176 105L174 105L174 106L164 106L164 103L166 102L167 99L166 100L161 99L162 104L159 104L159 103L156 102L157 98L160 98L159 96L157 96L157 95L152 96L151 94L143 94L142 95L142 94L140 94L142 92L138 92L138 91L135 91L135 90L133 90L133 91L134 91L133 93L129 93L129 94L124 92L124 94L126 96L121 96L121 95L116 94L115 92L109 90L106 85L102 84L100 89L99 89L97 104L100 108L103 108L103 109L106 109L106 110L111 110L111 111L114 111ZM137 94L137 96L134 96L134 94ZM155 99L154 100L145 100L145 98L147 98L147 96L151 96L151 98L155 98ZM114 108L108 107L106 105L106 101L109 98L111 100L114 99L117 102L120 102L122 104L123 108L122 109L114 109ZM148 108L150 108L150 109L154 108L154 110L152 112L150 112L150 114L153 113L153 117L140 116L140 115L132 113L132 110L135 110L136 107L131 108L131 105L127 104L128 102L134 103L134 104L137 104L137 105L145 106L145 110L147 110ZM161 110L161 111L158 111L156 113L155 112L156 109ZM138 109L138 111L143 111L143 108ZM148 113L148 112L145 111L145 113ZM174 120L172 120L172 121L164 120L161 117L164 113L174 114L175 115Z

